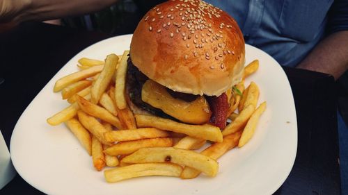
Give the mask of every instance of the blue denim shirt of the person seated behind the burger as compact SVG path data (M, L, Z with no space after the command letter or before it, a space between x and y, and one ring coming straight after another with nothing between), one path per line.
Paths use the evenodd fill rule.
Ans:
M339 0L345 4L347 1ZM333 0L207 0L228 12L246 43L273 56L280 65L296 66L322 39ZM341 6L342 7L342 6ZM337 10L333 11L334 14ZM347 13L342 12L347 27ZM342 20L342 17L340 18ZM342 23L342 22L341 22ZM341 25L341 24L340 24Z

